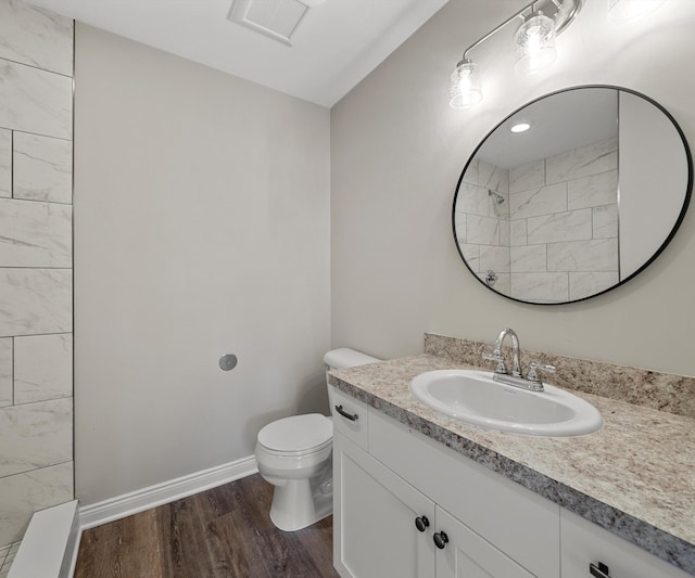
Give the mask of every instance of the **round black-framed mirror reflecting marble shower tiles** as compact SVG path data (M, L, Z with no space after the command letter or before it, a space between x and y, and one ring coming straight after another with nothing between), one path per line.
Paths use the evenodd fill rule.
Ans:
M468 269L505 297L587 299L664 251L692 178L683 132L655 101L606 86L554 92L478 145L456 188L454 239Z

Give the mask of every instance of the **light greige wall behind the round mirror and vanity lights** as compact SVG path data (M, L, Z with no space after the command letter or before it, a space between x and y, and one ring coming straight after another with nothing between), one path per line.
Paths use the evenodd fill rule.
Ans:
M584 2L558 38L555 66L533 77L513 73L513 28L503 30L471 52L482 103L450 108L448 75L463 50L525 3L451 0L332 108L332 343L395 357L421 351L426 331L491 342L511 326L522 347L693 375L693 210L645 272L573 305L506 300L456 253L451 209L460 170L496 123L529 100L577 85L631 88L660 102L695 144L692 0L626 24L606 20L606 2ZM485 29L471 29L472 11Z

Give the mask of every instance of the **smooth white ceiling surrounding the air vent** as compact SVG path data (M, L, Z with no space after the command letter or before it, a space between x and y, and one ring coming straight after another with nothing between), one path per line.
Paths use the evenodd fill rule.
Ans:
M311 4L292 46L227 18L249 0L27 1L330 107L448 0L291 0Z

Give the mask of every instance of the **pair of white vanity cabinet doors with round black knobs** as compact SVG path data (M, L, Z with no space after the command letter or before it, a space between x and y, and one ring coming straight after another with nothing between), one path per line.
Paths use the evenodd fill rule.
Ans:
M343 578L533 578L341 434L333 451L333 563Z

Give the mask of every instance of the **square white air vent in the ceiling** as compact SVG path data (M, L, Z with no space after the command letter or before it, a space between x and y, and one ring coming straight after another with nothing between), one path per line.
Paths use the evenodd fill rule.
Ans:
M308 9L323 0L235 0L227 18L274 40L290 39Z

